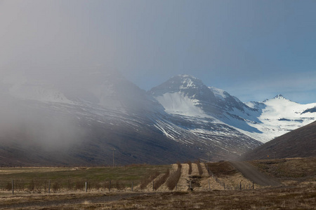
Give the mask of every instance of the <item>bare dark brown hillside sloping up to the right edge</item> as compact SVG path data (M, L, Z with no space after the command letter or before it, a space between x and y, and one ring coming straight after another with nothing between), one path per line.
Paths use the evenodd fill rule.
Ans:
M316 121L277 137L242 155L243 160L316 156Z

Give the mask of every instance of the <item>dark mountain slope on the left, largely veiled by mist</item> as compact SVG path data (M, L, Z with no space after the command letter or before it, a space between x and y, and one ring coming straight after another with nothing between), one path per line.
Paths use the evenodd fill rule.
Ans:
M0 165L112 165L112 149L117 165L201 155L155 129L152 116L164 111L144 90L115 74L84 78L94 83L4 83Z

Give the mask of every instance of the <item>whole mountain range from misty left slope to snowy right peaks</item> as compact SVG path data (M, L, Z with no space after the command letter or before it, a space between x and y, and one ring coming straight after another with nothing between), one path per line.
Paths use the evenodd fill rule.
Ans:
M1 165L228 160L315 120L282 96L244 104L179 75L145 92L116 72L1 80Z

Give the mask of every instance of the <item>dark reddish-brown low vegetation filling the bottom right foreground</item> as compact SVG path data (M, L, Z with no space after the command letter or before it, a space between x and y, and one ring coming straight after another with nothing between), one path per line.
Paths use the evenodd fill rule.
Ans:
M100 204L104 209L315 209L315 188L161 193Z

